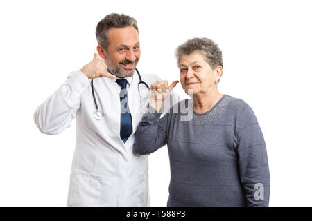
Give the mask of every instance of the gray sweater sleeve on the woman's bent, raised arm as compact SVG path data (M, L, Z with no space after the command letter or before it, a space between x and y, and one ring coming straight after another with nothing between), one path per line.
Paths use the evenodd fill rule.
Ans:
M153 153L166 145L166 125L169 114L160 118L161 113L156 113L151 107L148 110L139 122L135 137L134 151L141 155Z

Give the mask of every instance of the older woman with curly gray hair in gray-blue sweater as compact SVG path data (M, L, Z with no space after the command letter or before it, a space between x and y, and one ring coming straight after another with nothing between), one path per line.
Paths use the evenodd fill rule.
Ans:
M152 84L150 111L139 123L135 142L135 152L142 155L167 144L167 206L268 206L266 144L250 106L218 91L223 71L218 45L194 38L179 46L176 55L180 82L193 98L160 118L162 103L177 81ZM185 118L184 104L193 117Z

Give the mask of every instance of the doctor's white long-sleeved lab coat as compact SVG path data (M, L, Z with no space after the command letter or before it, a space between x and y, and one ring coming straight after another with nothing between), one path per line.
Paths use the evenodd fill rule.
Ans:
M157 75L141 75L150 86ZM42 133L59 134L76 117L76 149L73 155L67 206L149 206L148 155L132 148L143 113L139 111L137 73L128 78L128 104L133 133L125 144L120 137L121 87L116 79L94 79L94 92L103 118L94 118L91 80L80 72L67 81L34 113ZM172 95L177 102L177 95ZM168 100L168 99L167 99Z

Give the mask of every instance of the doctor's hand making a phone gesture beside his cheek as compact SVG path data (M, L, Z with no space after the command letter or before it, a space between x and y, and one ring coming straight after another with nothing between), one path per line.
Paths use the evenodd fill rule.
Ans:
M96 53L94 53L93 60L83 66L83 68L81 68L80 70L89 79L94 79L96 77L116 78L115 75L108 73L105 61L98 57L98 54Z

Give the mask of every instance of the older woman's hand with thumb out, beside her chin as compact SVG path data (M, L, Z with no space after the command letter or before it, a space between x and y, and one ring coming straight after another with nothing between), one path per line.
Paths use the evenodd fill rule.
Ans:
M179 81L173 81L171 85L168 85L168 81L157 81L156 83L150 85L152 93L150 95L150 106L152 106L155 111L159 112L162 108L162 104L166 98L170 95L171 90L179 83Z

